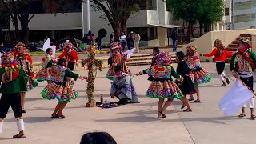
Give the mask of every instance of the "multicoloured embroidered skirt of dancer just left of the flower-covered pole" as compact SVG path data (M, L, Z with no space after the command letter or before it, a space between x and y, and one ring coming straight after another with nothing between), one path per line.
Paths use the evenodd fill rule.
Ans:
M41 95L48 100L58 98L58 102L70 102L70 100L74 100L78 97L78 92L74 90L71 84L62 86L50 82L44 90L42 90Z

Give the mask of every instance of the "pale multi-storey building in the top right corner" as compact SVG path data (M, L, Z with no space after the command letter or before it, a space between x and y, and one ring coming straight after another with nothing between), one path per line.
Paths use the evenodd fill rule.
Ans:
M230 29L251 29L256 26L256 0L230 0ZM233 8L233 9L232 9Z

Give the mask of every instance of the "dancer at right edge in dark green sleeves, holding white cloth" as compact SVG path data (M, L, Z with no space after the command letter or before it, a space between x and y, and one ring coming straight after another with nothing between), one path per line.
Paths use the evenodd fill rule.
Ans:
M240 78L252 91L254 91L253 70L255 70L255 66L256 55L251 51L250 40L247 38L241 38L238 42L238 52L231 58L230 70L235 78ZM250 118L255 120L254 97L250 99L250 102L242 107L242 114L238 117L242 118L246 116L246 106L250 106Z

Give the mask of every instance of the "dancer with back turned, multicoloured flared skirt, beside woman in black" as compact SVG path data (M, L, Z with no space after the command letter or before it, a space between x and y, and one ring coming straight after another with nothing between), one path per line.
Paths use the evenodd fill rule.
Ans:
M173 66L171 66L171 56L168 52L159 54L157 64L151 66L150 69L143 70L136 75L149 74L154 78L149 89L146 91L146 97L159 98L158 102L158 118L166 118L165 110L173 102L174 98L180 99L190 106L187 98L184 97L182 91L178 88L176 83L172 80L172 76L178 80L183 80L182 76L178 75ZM168 100L163 106L164 99ZM192 111L187 109L184 111Z

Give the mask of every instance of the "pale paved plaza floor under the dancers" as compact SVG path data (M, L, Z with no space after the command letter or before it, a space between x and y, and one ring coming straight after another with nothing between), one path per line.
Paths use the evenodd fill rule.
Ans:
M176 67L176 65L174 65ZM180 109L181 102L175 100L166 110L165 119L157 119L158 99L146 98L146 90L150 85L147 76L134 76L134 85L139 94L140 104L130 104L113 109L86 108L86 82L78 80L75 87L79 96L70 102L63 114L65 119L52 119L57 100L48 101L40 96L46 82L26 94L26 139L12 139L17 134L14 114L10 110L0 144L78 144L82 134L87 132L106 131L118 144L248 144L254 141L256 121L250 120L247 109L245 118L226 117L218 109L218 102L230 86L220 87L215 64L203 63L209 70L213 80L200 86L202 103L191 102L192 113L184 113ZM130 67L133 73L144 70L148 66ZM226 66L228 70L228 66ZM110 81L103 78L107 69L98 72L95 82L95 99L113 101L110 93ZM86 74L87 71L77 71ZM230 75L230 71L228 71ZM87 74L86 74L87 75ZM234 79L234 78L232 78ZM114 99L118 101L118 99Z

